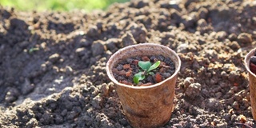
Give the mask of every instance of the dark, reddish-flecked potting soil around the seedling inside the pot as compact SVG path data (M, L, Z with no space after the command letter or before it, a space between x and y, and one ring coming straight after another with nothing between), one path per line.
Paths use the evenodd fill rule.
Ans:
M137 74L142 69L138 66L138 62L151 62L153 65L155 62L160 61L160 65L152 70L153 74L146 75L146 78L134 83L134 74ZM113 68L114 78L121 83L130 86L150 86L158 82L162 82L166 78L169 78L175 72L174 62L170 58L166 58L162 55L152 55L152 56L141 56L134 58L127 58L122 62L119 62L117 66Z

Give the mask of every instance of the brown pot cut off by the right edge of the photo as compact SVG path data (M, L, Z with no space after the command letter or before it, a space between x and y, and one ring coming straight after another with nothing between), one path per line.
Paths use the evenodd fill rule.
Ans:
M249 83L250 83L250 104L251 104L251 112L253 114L254 120L256 120L256 75L250 70L250 57L254 56L256 49L250 50L248 54L246 54L246 58L244 60L246 70L249 74Z

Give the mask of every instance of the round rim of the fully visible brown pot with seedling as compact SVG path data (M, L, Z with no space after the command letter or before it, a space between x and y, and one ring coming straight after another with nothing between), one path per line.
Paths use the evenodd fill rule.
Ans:
M149 89L149 88L154 88L156 86L161 86L162 83L176 77L178 75L178 71L181 69L181 65L182 65L182 62L181 62L181 59L178 57L178 54L174 51L174 50L171 50L168 46L163 46L163 45L160 45L160 44L154 44L154 43L150 43L150 42L146 42L146 43L141 43L141 44L136 44L136 45L131 45L131 46L126 46L126 47L123 47L122 49L118 50L117 52L115 52L114 54L111 55L111 57L109 58L109 60L112 60L114 58L114 56L116 54L120 54L122 53L122 50L126 50L126 49L130 49L131 47L137 47L137 46L160 46L164 49L167 49L167 50L170 50L172 54L174 54L174 56L177 58L178 60L178 68L175 69L175 72L174 74L172 74L169 78L166 78L165 80L163 80L162 82L158 82L158 83L155 83L154 85L150 85L150 86L130 86L130 85L126 85L126 84L123 84L123 83L120 83L118 82L114 76L112 74L110 74L110 61L108 61L106 63L106 74L108 75L108 77L110 78L110 80L112 82L114 82L114 84L118 85L118 86L125 86L125 87L129 87L129 88L133 88L133 89Z

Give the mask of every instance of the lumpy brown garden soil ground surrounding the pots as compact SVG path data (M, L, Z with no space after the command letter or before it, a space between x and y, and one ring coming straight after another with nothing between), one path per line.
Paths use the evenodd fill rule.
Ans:
M134 1L88 14L1 7L0 127L131 127L106 62L144 42L182 60L163 127L256 127L243 65L255 12L253 0Z

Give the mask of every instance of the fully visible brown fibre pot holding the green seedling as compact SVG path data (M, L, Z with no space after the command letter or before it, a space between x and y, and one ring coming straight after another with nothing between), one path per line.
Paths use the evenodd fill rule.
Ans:
M175 72L162 82L151 86L129 86L118 82L112 69L126 58L142 55L163 55L169 57L175 65ZM116 85L116 90L122 104L123 113L131 126L134 127L158 127L170 120L173 111L175 84L181 60L178 54L169 47L143 43L127 46L113 54L106 64L106 73Z

